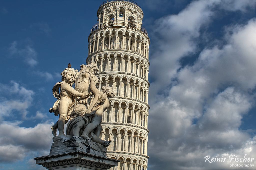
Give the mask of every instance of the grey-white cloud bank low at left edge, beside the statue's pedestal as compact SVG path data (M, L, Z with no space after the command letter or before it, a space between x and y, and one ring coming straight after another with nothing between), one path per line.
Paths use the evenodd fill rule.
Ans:
M20 127L20 122L0 124L0 162L16 162L25 156L48 155L51 143L52 122L39 123L35 127Z

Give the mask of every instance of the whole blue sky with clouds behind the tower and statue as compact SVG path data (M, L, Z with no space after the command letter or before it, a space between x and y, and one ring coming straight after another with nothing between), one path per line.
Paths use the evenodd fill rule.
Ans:
M52 87L85 63L102 2L0 2L0 169L42 169L33 158L52 143ZM151 38L148 169L256 159L256 1L136 2Z

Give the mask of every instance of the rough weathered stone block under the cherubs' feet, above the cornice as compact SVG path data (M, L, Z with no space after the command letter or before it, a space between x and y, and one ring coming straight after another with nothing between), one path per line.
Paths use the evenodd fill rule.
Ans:
M107 148L103 145L79 137L72 138L72 135L60 135L53 137L50 155L58 155L75 151L86 152L88 146L90 146L89 154L106 157Z

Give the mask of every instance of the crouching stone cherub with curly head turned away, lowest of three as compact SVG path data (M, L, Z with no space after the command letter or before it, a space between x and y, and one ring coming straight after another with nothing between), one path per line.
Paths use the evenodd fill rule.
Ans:
M92 116L87 114L87 109L84 104L76 104L73 110L74 118L67 125L67 135L72 135L72 138L81 138L84 128L91 121ZM91 140L99 143L105 147L110 145L111 140L102 140L99 138L102 130L101 124L97 126L92 132L90 132Z

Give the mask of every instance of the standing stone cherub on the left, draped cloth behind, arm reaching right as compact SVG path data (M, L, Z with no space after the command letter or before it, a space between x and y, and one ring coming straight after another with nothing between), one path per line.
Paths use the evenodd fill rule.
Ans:
M66 68L61 73L62 81L58 82L52 88L52 92L55 98L58 100L54 103L53 107L50 108L49 112L56 116L59 115L59 120L51 127L52 134L56 136L57 129L59 130L59 135L64 134L64 125L70 119L71 113L75 105L75 97L88 98L89 94L79 93L74 90L72 85L74 84L76 72L73 68ZM60 93L59 93L60 88Z

